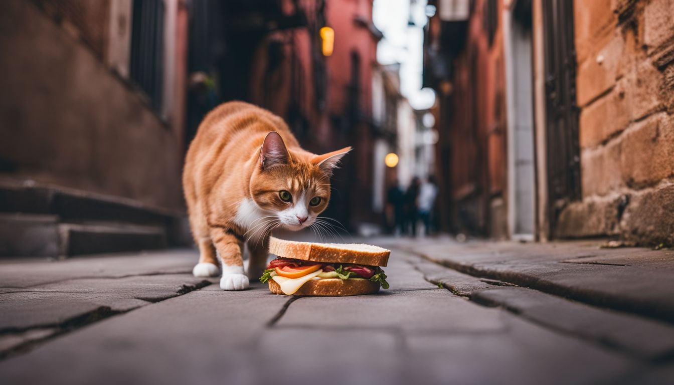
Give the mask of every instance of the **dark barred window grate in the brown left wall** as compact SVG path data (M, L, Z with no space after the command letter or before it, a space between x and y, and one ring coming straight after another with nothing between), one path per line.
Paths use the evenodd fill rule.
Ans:
M133 0L131 80L161 111L164 76L164 1Z

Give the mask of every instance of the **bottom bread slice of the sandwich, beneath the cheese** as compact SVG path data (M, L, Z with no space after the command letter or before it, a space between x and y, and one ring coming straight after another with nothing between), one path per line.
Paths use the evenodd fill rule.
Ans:
M270 279L269 290L274 294L283 294L275 280ZM302 285L295 295L344 296L375 294L379 291L379 283L368 279L313 279Z

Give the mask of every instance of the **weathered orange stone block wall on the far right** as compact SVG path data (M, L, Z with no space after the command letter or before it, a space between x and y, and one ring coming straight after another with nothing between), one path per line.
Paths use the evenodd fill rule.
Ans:
M582 201L557 235L674 244L674 0L576 0Z

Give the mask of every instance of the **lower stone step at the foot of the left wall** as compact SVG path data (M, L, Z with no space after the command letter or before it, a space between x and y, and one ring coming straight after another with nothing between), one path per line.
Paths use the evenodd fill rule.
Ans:
M115 222L61 223L55 215L0 214L0 257L65 257L167 247L166 228Z

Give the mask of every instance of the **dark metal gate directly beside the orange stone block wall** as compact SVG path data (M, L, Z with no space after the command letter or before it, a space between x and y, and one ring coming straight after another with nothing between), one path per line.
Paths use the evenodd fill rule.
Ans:
M544 0L547 177L551 234L568 202L580 199L573 1Z

